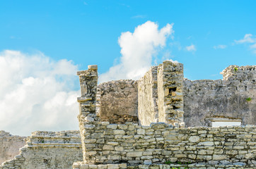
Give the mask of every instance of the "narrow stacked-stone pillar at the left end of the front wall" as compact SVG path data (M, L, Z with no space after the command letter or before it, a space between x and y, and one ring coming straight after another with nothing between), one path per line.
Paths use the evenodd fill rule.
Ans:
M86 162L87 151L85 140L88 139L87 137L91 137L91 130L89 126L92 126L95 121L99 121L95 111L98 82L97 70L97 65L88 65L88 70L77 72L81 86L81 97L78 97L77 101L79 103L78 121L84 162Z

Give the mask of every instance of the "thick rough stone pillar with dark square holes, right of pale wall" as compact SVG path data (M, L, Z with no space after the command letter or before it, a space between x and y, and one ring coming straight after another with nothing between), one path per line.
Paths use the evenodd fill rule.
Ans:
M159 122L185 127L183 123L183 64L164 61L158 66Z

